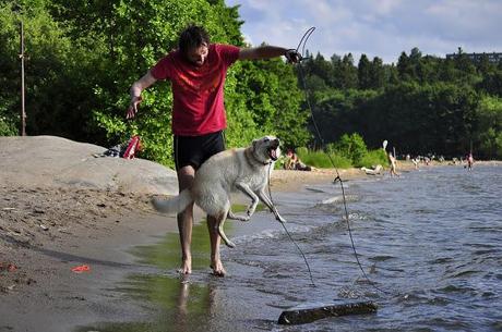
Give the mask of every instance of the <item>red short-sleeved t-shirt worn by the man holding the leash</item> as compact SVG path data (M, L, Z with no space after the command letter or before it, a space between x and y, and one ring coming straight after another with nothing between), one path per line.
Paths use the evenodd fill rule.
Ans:
M151 69L156 79L171 81L175 135L199 136L226 128L223 88L227 69L238 57L238 47L211 44L202 66L175 50Z

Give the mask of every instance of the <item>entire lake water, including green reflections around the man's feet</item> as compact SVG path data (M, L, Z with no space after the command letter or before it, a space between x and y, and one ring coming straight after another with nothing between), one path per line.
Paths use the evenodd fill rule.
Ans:
M136 255L158 271L120 285L156 308L152 321L101 323L98 331L502 331L502 167L421 169L398 179L344 183L359 269L339 184L274 194L306 263L266 211L228 221L229 275L208 274L208 236L195 228L194 272L182 283L178 235ZM383 291L383 292L382 292ZM374 315L285 327L287 308L373 300ZM85 329L84 329L85 330ZM84 331L83 330L83 331ZM88 328L87 328L88 330Z

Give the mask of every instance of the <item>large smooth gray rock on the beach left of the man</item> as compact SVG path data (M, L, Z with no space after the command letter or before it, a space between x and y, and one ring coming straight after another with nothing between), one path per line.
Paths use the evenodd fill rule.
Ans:
M106 150L55 136L0 137L0 185L178 193L175 171L139 158L93 156Z

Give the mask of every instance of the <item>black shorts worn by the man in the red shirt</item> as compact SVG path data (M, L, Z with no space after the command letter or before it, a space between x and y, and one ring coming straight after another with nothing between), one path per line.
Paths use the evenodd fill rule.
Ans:
M187 165L198 170L211 156L225 150L224 132L202 136L178 136L174 142L176 170Z

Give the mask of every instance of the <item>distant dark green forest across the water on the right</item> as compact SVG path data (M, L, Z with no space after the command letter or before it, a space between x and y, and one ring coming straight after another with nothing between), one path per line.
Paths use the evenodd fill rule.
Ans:
M387 139L402 153L502 157L502 63L403 52L397 64L362 54L308 56L304 77L324 140L359 133L369 147ZM301 75L302 74L302 75Z

